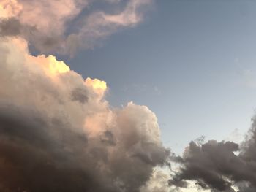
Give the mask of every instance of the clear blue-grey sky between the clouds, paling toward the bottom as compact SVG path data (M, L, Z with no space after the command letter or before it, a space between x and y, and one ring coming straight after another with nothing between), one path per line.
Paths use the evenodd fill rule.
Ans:
M64 58L108 82L114 107L134 101L157 114L162 139L238 140L256 107L256 1L159 0L138 26Z

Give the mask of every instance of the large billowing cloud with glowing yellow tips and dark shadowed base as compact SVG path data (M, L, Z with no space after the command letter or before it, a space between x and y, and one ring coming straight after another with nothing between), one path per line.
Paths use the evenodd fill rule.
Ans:
M150 185L169 151L148 107L113 109L105 82L83 80L53 55L30 55L24 39L1 38L0 54L0 191Z

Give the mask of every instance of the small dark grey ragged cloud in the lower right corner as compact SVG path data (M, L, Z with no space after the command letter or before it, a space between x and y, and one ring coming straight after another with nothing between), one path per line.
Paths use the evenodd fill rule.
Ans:
M256 119L241 146L234 142L191 142L183 157L174 157L181 164L170 185L187 188L192 180L212 191L256 191Z

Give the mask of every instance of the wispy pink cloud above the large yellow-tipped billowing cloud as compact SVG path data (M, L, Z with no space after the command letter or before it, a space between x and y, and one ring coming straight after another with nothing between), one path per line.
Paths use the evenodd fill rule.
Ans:
M73 54L140 23L152 1L0 0L0 36L22 36L41 53Z

